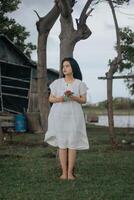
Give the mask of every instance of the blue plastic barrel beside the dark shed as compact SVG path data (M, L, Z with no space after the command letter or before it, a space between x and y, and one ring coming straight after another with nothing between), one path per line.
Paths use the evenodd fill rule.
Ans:
M26 115L17 114L15 116L15 130L16 132L23 133L27 131Z

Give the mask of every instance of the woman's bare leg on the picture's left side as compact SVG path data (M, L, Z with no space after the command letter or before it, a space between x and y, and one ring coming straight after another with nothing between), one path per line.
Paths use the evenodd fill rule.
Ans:
M59 160L62 168L61 179L67 179L67 149L59 148Z

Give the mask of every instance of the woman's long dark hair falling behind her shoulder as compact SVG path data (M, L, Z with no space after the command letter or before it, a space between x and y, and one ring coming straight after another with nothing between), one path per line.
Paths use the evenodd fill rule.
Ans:
M81 73L80 67L79 67L77 61L74 58L71 58L71 57L64 58L61 62L62 77L65 77L65 75L63 74L63 63L64 63L64 61L68 61L70 63L70 65L72 67L73 77L82 81L82 73Z

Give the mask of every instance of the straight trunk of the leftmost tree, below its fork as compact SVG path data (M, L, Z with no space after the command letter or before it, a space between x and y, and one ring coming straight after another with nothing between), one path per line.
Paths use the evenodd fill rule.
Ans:
M49 112L48 87L47 87L47 63L46 63L47 34L38 36L38 66L37 66L37 91L40 111L41 127L47 130L47 119Z

